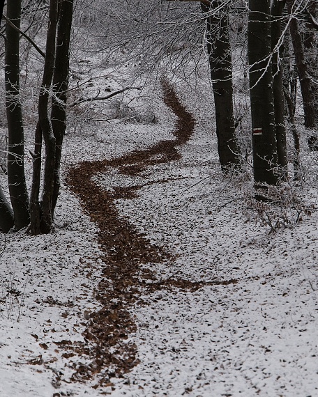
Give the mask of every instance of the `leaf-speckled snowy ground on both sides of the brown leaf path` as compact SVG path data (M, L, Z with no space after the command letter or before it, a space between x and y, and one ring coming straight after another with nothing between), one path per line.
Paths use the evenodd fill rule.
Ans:
M318 396L318 213L271 234L248 220L243 201L233 201L238 187L218 171L209 86L202 81L191 90L180 83L176 91L196 118L195 133L178 148L181 159L148 166L137 177L109 171L96 180L104 189L144 185L137 198L116 204L174 255L146 267L159 280L206 285L142 296L147 304L131 309L137 332L130 336L140 364L103 387L98 374L71 382L85 364L77 348L86 343L89 313L99 307L94 291L103 252L96 226L63 185L54 233L0 235L1 397ZM175 116L158 88L132 105L151 109L158 123L111 120L79 129L74 119L63 169L173 139ZM313 185L308 201L316 199Z

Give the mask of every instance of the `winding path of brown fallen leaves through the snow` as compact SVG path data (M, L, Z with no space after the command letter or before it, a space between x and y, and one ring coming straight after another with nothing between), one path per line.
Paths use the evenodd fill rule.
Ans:
M141 267L146 263L162 263L174 259L163 247L151 244L128 219L119 217L114 201L135 197L135 192L142 185L120 187L114 189L114 192L107 192L92 180L93 176L106 172L109 167L116 167L122 174L135 176L147 166L181 157L176 146L190 139L195 119L179 102L168 81L162 81L162 90L165 104L177 116L173 132L175 139L159 141L145 150L134 150L112 160L82 162L68 172L68 184L100 229L98 242L105 253L102 258L105 264L103 279L100 280L96 293L96 299L103 305L103 309L91 313L84 332L87 344L76 348L81 355L89 356L91 364L74 368L73 380L84 381L99 374L100 384L109 384L112 377L122 377L138 364L137 346L129 341L129 335L137 329L130 308L136 302L143 303L141 293L162 288L196 290L203 284L206 285L181 279L158 282L150 270ZM235 282L236 280L215 281L211 284Z

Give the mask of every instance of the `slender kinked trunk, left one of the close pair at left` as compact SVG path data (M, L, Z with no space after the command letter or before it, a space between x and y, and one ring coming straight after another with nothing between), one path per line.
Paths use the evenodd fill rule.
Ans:
M58 17L58 0L50 0L49 27L45 51L45 65L42 86L38 100L38 120L45 142L45 168L43 195L41 203L40 229L50 233L52 229L52 199L54 191L55 137L49 116L49 98L52 92L52 77L55 62L56 24Z

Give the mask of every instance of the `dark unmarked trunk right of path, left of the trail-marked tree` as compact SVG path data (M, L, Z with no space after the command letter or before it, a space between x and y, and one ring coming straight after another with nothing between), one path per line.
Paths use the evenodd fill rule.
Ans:
M222 1L212 1L211 8L201 5L204 13L209 13L222 5ZM232 56L229 42L229 9L213 11L206 18L206 38L215 104L216 134L218 154L222 169L238 166L239 148L236 141L234 111Z

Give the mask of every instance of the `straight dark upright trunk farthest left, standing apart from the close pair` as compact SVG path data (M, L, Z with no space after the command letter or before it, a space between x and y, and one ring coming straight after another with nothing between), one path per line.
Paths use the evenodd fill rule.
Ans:
M21 0L8 0L7 17L20 28ZM29 224L29 198L24 175L24 132L20 102L20 34L6 24L6 114L8 120L8 182L15 229Z

